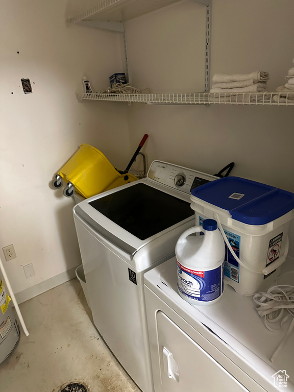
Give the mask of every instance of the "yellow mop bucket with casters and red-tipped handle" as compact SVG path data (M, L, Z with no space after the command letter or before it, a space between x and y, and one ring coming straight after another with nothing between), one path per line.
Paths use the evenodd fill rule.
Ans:
M142 146L142 142L140 144ZM138 149L141 146L139 145ZM128 170L136 158L135 155L139 152L138 149L127 167ZM87 199L105 190L138 180L138 178L127 173L127 170L116 170L106 156L92 145L81 144L79 150L58 171L52 185L60 188L62 180L67 183L63 190L66 197L71 197L76 191Z

